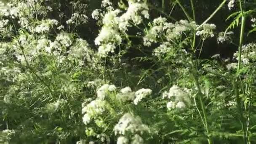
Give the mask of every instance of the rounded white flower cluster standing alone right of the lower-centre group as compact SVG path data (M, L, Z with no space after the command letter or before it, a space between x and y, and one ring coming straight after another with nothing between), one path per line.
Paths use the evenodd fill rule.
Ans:
M166 97L168 99L171 99L171 98L174 99L174 101L169 101L166 105L169 110L174 108L182 109L186 107L186 104L190 104L189 95L185 93L177 85L173 85L170 88L169 92L165 91L163 93L163 99L165 99Z

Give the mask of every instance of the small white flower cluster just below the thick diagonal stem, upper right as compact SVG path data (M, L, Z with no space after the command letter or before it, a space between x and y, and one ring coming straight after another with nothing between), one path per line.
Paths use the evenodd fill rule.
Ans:
M213 30L216 29L215 24L203 24L202 27L200 27L201 30L198 30L196 32L197 36L200 36L203 40L207 39L208 37L214 37Z

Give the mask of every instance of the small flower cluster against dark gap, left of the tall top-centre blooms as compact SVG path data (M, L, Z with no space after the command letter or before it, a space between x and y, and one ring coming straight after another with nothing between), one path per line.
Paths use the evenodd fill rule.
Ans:
M85 14L73 13L71 18L66 21L67 24L84 24L88 21L88 17Z

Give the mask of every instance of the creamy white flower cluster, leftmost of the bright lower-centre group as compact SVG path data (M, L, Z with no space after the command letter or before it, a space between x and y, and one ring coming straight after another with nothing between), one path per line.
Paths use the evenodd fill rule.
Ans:
M89 104L82 104L83 123L87 125L91 119L97 115L101 115L106 109L106 101L96 99Z

